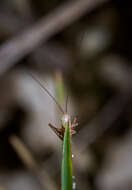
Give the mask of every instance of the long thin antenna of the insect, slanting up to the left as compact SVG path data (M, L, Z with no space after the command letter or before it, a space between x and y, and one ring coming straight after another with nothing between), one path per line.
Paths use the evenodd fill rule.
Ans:
M64 110L62 109L62 107L60 106L60 104L57 102L57 100L54 98L54 96L52 96L52 94L45 88L45 86L40 82L39 79L37 79L32 73L30 73L31 77L40 85L40 87L47 92L47 94L52 98L52 100L56 103L56 105L58 106L58 108L60 109L60 111L65 114Z

